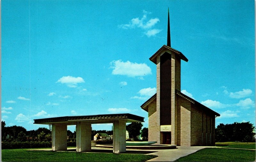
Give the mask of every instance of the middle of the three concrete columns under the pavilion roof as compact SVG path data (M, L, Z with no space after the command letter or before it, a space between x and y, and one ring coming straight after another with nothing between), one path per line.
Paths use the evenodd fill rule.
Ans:
M77 122L76 125L76 151L91 151L91 123Z

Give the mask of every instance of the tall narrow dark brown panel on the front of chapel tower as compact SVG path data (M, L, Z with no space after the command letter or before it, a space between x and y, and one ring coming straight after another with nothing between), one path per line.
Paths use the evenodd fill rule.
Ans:
M160 125L171 125L171 61L169 53L160 57Z

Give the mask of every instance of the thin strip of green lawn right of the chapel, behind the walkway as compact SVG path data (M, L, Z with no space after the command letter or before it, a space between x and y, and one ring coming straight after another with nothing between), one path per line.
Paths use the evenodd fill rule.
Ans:
M228 148L242 148L242 149L255 149L254 143L242 143L242 142L216 142L217 147L228 147Z

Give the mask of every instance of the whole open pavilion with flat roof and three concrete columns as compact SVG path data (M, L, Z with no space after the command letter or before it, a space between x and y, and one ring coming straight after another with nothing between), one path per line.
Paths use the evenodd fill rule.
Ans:
M76 125L76 151L91 151L91 124L113 123L113 152L126 151L126 123L144 122L144 117L133 114L102 114L61 116L34 119L34 124L52 125L52 151L67 150L67 126Z

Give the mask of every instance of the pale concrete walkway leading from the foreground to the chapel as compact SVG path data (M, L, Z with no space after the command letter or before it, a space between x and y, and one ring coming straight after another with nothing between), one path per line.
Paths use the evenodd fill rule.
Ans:
M198 150L210 147L215 148L214 146L177 146L178 149L172 150L151 150L157 152L149 153L148 155L157 155L158 157L150 159L148 161L174 161Z

